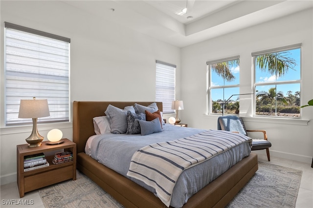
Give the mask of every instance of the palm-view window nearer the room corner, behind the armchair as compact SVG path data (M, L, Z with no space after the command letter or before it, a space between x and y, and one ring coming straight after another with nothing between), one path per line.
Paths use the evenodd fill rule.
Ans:
M208 112L239 114L239 96L237 96L239 56L210 61L206 64L208 65Z

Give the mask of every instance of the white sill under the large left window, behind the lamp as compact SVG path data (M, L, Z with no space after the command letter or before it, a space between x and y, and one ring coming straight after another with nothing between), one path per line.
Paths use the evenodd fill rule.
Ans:
M31 132L32 127L33 127L33 125L6 126L3 128L0 128L0 135ZM73 127L72 122L56 122L56 123L38 124L37 125L37 128L40 131L51 130L53 128L65 129L65 128L72 128L72 127Z

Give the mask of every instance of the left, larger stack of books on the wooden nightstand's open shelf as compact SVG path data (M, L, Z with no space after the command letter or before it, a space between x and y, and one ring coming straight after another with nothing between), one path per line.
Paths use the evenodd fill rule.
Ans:
M24 172L49 166L44 153L24 156Z

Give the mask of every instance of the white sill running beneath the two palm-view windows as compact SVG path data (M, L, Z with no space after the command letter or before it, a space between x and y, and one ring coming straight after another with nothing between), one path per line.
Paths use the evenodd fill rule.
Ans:
M222 115L204 114L205 117L217 119ZM242 117L245 122L261 122L270 124L308 125L310 120L300 118L266 118L266 117Z

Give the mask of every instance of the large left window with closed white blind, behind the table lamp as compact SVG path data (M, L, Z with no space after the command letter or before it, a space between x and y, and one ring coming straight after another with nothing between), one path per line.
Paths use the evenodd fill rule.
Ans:
M69 119L70 39L4 22L5 125L19 119L21 99L47 99L50 116L38 122Z

